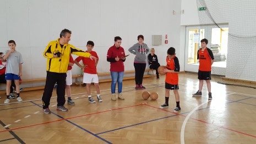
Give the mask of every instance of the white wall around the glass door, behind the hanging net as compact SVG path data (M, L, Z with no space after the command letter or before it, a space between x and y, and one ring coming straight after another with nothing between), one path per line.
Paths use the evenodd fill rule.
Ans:
M228 36L227 68L213 68L213 72L225 74L231 79L256 81L256 1L206 0L205 4L217 24L228 24L229 34L245 37L238 40L236 36ZM181 9L184 9L184 14L181 14L181 25L212 24L209 23L209 18L206 18L205 11L198 13L197 0L182 0ZM199 20L199 16L205 19ZM248 38L249 36L252 37ZM181 38L182 42L185 42L185 38Z

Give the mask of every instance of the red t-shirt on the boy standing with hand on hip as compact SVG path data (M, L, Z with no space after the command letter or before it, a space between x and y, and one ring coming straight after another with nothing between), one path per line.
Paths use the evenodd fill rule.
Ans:
M88 51L86 51L88 52ZM91 54L91 56L94 56L97 58L97 60L99 60L99 57L97 55L97 53L95 51L91 51L88 52ZM96 60L91 60L90 58L85 58L85 57L78 57L75 60L77 60L77 62L79 63L80 60L83 61L84 65L87 65L86 68L84 68L84 73L88 73L88 74L97 74L97 69L96 69Z

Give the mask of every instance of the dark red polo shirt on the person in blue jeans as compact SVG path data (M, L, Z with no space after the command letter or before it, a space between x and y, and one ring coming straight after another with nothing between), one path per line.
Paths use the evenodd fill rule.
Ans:
M107 58L121 58L126 56L124 49L122 47L116 48L115 45L110 47L107 51ZM110 62L110 71L121 72L124 71L123 60L120 59L117 62Z

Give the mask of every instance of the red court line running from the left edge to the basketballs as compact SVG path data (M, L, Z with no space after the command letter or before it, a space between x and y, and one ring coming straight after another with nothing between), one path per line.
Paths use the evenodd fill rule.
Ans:
M89 113L89 114L78 115L78 116L75 116L75 117L69 117L69 118L64 118L64 119L46 121L46 122L38 123L38 124L32 124L32 125L27 125L27 126L21 126L21 127L18 127L18 128L7 129L7 130L1 130L0 132L13 131L13 130L17 130L17 129L28 128L28 127L31 127L31 126L42 125L42 124L48 124L48 123L53 123L53 122L56 122L56 121L62 121L62 120L67 120L67 119L79 118L79 117L84 117L84 116L87 116L87 115L105 113L105 112L110 112L110 111L112 111L112 110L118 110L118 109L124 109L124 108L131 108L131 107L136 107L136 106L141 106L141 105L143 105L143 104L136 104L136 105L133 105L133 106L127 106L127 107L122 107L122 108L109 109L109 110L104 110L104 111L96 112L96 113Z

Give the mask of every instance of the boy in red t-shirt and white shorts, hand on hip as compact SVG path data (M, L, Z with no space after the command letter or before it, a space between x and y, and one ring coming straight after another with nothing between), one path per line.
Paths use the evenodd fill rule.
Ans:
M91 97L91 82L94 82L94 86L97 92L97 99L99 102L102 102L102 99L100 97L99 77L97 75L96 69L99 62L99 57L97 56L97 53L95 51L92 51L92 48L94 48L94 42L88 41L86 47L86 52L90 53L91 56L96 57L97 60L91 60L90 58L85 57L78 57L75 59L75 64L77 64L78 67L82 69L84 68L83 82L86 84L86 91L89 98L88 101L91 103L95 103L94 99ZM84 66L79 64L80 60L83 61Z

